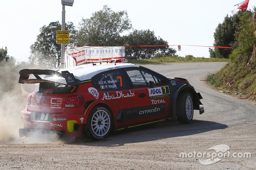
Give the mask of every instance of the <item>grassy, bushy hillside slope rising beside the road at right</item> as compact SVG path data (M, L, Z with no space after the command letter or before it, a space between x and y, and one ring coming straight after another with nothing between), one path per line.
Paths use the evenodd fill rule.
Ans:
M230 62L215 74L208 76L208 82L224 92L256 100L256 13L243 15L235 33L236 41Z

